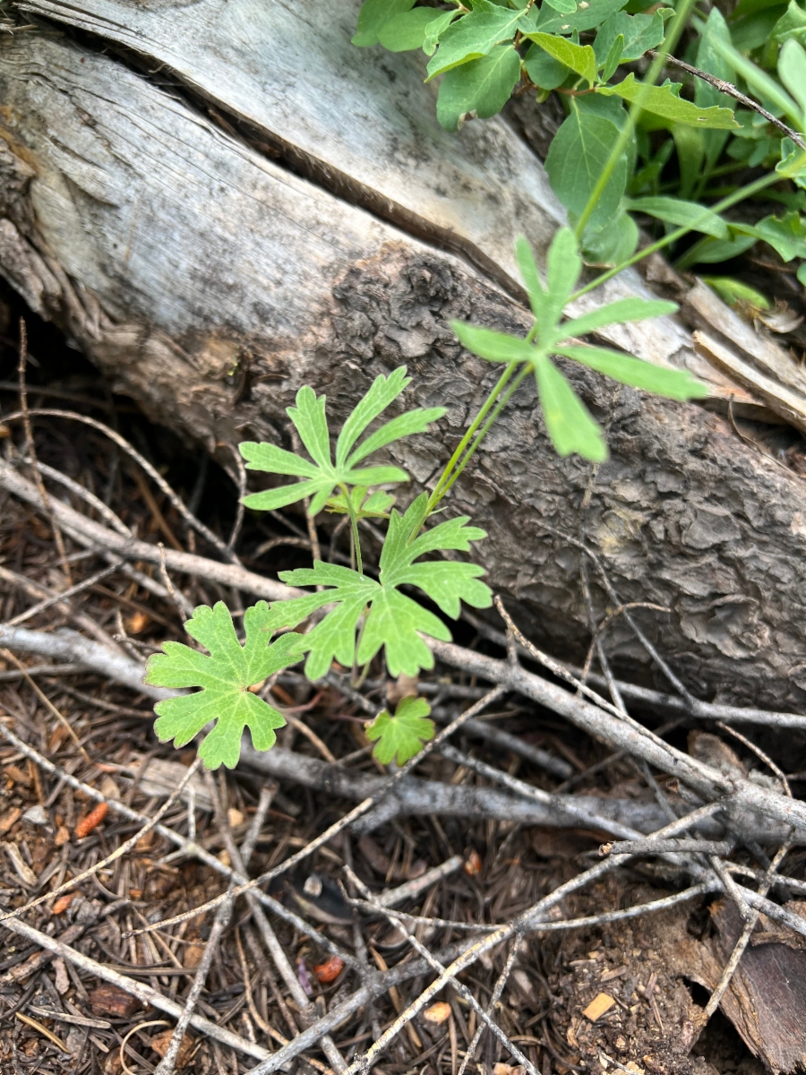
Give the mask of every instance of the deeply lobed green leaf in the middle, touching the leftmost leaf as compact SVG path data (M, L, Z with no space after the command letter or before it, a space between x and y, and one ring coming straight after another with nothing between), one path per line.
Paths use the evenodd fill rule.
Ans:
M484 530L469 527L466 517L441 522L415 536L424 519L427 504L428 494L423 492L404 515L392 511L377 582L321 560L315 561L313 568L280 573L280 578L290 586L328 588L274 604L275 628L296 627L317 608L333 605L297 643L299 653L308 654L305 674L310 679L321 678L333 660L350 665L355 657L364 664L382 647L386 649L386 663L393 676L417 675L420 669L433 668L433 655L420 635L449 642L450 631L438 616L403 593L401 586L417 586L454 619L459 616L462 601L474 608L489 607L492 596L479 580L484 574L481 568L452 560L416 562L436 550L467 551L471 542L486 536ZM356 649L359 620L368 607Z

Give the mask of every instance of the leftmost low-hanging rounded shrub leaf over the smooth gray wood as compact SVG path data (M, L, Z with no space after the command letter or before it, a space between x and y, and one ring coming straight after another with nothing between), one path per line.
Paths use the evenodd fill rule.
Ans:
M519 80L518 53L512 45L495 45L487 56L445 74L436 100L436 118L451 131L469 113L488 119L501 112Z

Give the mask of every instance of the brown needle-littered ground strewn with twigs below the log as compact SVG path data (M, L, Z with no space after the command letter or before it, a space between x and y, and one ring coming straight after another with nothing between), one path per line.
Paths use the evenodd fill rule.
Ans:
M214 463L200 468L198 453L152 426L131 400L115 396L55 333L30 328L27 406L78 413L113 427L211 530L227 538L236 512L231 478ZM16 322L6 318L0 332L6 415L0 448L11 459L26 447L20 422L8 417L20 405ZM53 468L66 474L141 540L206 555L170 500L103 432L68 417L32 420L43 473ZM76 511L92 514L75 490L47 486ZM69 628L89 637L93 625L93 642L132 661L167 639L185 637L170 596L145 589L97 547L67 534L60 540L63 550L46 513L0 492L1 626L46 634ZM246 568L273 576L306 565L306 541L299 517L247 515L235 547ZM158 567L133 567L161 587ZM181 584L192 604L239 601L203 578L182 577ZM75 587L73 597L55 600ZM455 637L502 656L470 624L460 624ZM373 670L376 676L379 671ZM385 688L371 674L361 688L370 710L383 704ZM420 689L448 719L486 692L474 677L440 664ZM578 890L571 886L548 907L547 928L505 936L418 1014L405 1015L435 978L434 959L450 962L469 936L483 938L490 927L510 922L602 862L600 845L613 838L607 830L485 817L483 806L478 816L455 816L438 806L401 812L369 831L359 826L336 832L272 880L268 906L241 895L224 905L226 913L220 904L197 912L226 891L238 847L246 845L243 870L261 875L339 822L362 798L361 778L389 778L363 731L366 705L345 677L312 686L289 672L273 687L273 699L288 719L278 745L289 756L322 763L318 776L304 785L242 762L212 777L195 772L177 793L196 751L157 741L148 697L77 663L0 650L0 914L32 904L0 922L0 1071L128 1075L159 1065L160 1075L183 1069L206 1075L260 1065L268 1072L271 1057L286 1049L279 1058L284 1071L322 1075L360 1058L390 1027L400 1032L374 1064L382 1075L458 1075L465 1069L522 1075L524 1067L539 1075L757 1075L766 1069L747 1041L772 1066L783 1063L776 1051L780 1042L769 1034L787 1032L786 1013L780 1023L765 1022L758 1003L760 992L769 992L778 1004L780 981L769 977L769 961L761 957L772 952L787 980L798 974L806 980L803 936L783 936L761 916L757 932L765 933L766 943L748 948L728 987L722 1007L731 1018L718 1010L703 1026L703 1006L738 933L736 916L714 892L678 899L689 882L659 858L634 858ZM657 729L667 715L636 716ZM636 807L659 797L673 806L681 802L674 782L652 776L646 765L613 754L516 693L496 698L481 720L515 740L460 730L452 744L505 777ZM678 720L668 729L671 741L685 748L691 727ZM751 734L747 726L745 732ZM724 749L737 764L758 764L742 744ZM359 788L352 801L333 791L327 775L332 766ZM790 757L786 768L804 766ZM478 789L483 804L485 792L500 785L436 751L416 775ZM427 796L428 787L420 787ZM165 806L159 827L148 828ZM758 864L742 846L733 861ZM795 848L785 873L803 878L805 861L806 852ZM361 894L363 902L356 902ZM783 898L798 911L793 895L796 887ZM373 902L378 897L380 904ZM610 912L659 900L666 906L654 913L607 920ZM593 920L575 924L579 919ZM193 1019L178 1055L165 1058L195 984ZM487 1029L479 1037L478 1005L500 1036ZM802 1033L796 1007L793 1002L794 1038ZM294 1046L306 1026L331 1015L327 1043L319 1035L304 1049ZM803 1044L797 1047L803 1056Z

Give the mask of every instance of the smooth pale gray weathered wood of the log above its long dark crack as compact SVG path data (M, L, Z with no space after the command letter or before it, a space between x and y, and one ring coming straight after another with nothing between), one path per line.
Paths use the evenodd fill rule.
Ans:
M436 121L436 87L419 54L350 44L360 0L26 0L26 11L99 34L165 68L247 120L319 185L466 257L522 295L514 244L542 255L564 211L541 162L507 124ZM587 310L649 295L637 272L579 300ZM615 326L603 336L650 361L723 379L692 354L677 318Z

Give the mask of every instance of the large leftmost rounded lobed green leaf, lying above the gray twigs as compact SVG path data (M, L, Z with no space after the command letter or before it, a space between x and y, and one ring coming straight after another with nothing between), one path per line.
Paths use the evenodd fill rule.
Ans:
M199 757L207 769L234 769L241 755L241 735L251 733L256 750L270 750L275 728L285 718L248 689L299 659L299 636L284 634L270 643L272 614L259 601L244 614L246 641L238 641L232 617L220 601L214 608L200 605L185 624L191 639L210 656L181 642L164 642L164 653L148 658L144 683L155 687L201 687L193 694L168 698L155 705L154 729L161 743L185 746L210 721L215 728L202 740Z

